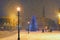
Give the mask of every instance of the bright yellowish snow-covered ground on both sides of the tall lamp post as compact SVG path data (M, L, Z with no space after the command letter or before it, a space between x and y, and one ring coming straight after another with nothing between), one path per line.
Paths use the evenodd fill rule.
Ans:
M0 38L0 40L17 40L17 33L5 38ZM20 31L20 40L60 40L60 32L30 32Z

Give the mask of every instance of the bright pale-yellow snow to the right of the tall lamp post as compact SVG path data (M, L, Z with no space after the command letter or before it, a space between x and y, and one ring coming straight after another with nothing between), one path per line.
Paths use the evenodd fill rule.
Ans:
M30 32L29 34L21 33L21 40L60 40L60 32Z

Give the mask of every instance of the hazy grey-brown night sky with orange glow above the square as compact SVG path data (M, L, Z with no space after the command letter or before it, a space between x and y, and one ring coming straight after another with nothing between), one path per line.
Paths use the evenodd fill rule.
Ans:
M45 16L53 20L57 19L57 13L60 8L60 0L0 0L0 16L16 13L17 6L24 9L23 15L42 17L43 5L45 7Z

